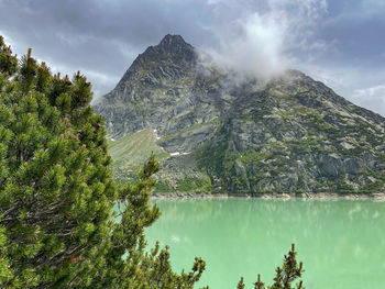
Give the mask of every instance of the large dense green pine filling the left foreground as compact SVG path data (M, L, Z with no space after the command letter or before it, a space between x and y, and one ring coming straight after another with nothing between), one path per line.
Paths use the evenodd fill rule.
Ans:
M158 163L114 182L91 97L80 73L53 76L31 49L18 63L0 37L0 287L193 288L204 260L177 275L168 248L145 251Z

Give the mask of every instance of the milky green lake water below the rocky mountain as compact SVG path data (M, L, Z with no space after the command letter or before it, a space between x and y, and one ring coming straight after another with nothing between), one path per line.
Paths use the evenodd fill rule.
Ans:
M207 263L200 286L253 288L260 273L272 284L290 244L304 262L307 289L385 288L385 202L378 200L154 200L160 220L148 245L169 245L174 270Z

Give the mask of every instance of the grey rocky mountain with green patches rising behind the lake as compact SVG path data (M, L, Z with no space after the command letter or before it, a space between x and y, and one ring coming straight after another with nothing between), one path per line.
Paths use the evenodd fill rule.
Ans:
M384 189L384 118L300 71L240 80L202 65L178 35L139 55L95 109L117 178L132 178L154 151L158 191Z

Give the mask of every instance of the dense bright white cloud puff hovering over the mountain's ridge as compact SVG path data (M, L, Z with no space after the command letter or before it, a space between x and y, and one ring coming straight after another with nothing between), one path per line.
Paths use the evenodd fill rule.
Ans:
M287 65L282 51L284 25L276 19L254 13L229 25L230 34L237 36L229 35L229 31L216 29L219 48L207 48L205 53L220 68L245 76L271 77Z

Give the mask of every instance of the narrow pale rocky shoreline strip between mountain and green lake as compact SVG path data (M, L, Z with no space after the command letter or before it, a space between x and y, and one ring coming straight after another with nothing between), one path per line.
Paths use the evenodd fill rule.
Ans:
M260 198L260 199L378 199L385 200L385 192L367 193L212 193L212 192L154 192L152 199L227 199L227 198Z

